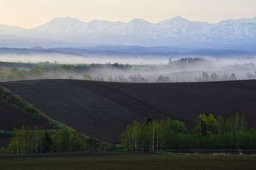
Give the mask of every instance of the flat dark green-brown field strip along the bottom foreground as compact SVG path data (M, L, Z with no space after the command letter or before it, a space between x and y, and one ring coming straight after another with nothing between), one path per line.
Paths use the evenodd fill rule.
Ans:
M256 156L92 153L0 157L0 169L256 169Z

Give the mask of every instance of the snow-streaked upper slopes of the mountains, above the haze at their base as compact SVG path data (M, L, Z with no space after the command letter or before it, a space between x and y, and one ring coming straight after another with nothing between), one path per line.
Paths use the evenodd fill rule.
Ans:
M179 16L156 24L140 18L123 23L106 20L83 22L76 18L60 17L33 29L0 25L0 35L85 43L92 41L93 44L100 44L108 39L109 42L117 45L122 45L122 41L136 45L158 45L157 42L162 45L175 45L177 41L182 41L188 44L199 42L200 45L204 43L214 45L248 43L255 46L256 17L224 20L216 24L189 21Z

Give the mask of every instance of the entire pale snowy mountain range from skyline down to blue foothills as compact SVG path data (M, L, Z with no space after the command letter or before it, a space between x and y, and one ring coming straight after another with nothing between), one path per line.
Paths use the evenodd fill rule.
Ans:
M31 29L0 24L0 47L139 45L256 50L256 17L210 24L173 17L158 23L60 17Z

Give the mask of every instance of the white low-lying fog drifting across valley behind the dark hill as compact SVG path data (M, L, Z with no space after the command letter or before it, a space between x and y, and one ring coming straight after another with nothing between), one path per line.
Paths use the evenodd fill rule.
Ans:
M72 78L99 81L125 81L125 82L175 82L175 81L221 81L244 80L256 78L255 56L244 57L163 57L163 56L77 56L77 55L1 55L4 62L31 62L48 61L61 64L73 64L77 68L40 69L42 73L36 76L25 73L21 80ZM129 64L131 67L120 67L106 63ZM104 66L88 66L88 64L104 64ZM78 65L77 65L78 64ZM85 65L86 64L86 65ZM84 67L83 67L84 66ZM86 66L86 67L85 67ZM3 64L1 65L3 67ZM1 73L0 67L0 73ZM44 66L40 66L44 67ZM54 67L54 66L52 66ZM33 68L35 69L35 68ZM3 71L3 70L2 70ZM11 71L12 72L12 71ZM14 73L14 72L13 72ZM0 81L13 81L8 73L4 77L0 74ZM12 74L12 73L10 73ZM18 74L18 73L17 73ZM21 74L21 73L19 73ZM20 78L19 78L20 80Z

